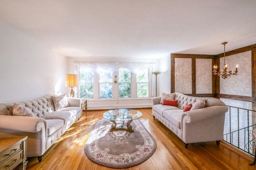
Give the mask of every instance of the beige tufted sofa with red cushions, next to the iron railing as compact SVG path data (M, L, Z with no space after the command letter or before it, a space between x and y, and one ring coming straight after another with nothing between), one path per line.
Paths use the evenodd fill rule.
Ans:
M200 97L174 93L178 107L160 104L161 97L151 98L152 115L175 133L188 147L189 143L216 141L223 139L225 113L228 107L217 98L204 98L206 105L200 109L184 111L184 106L193 104Z

